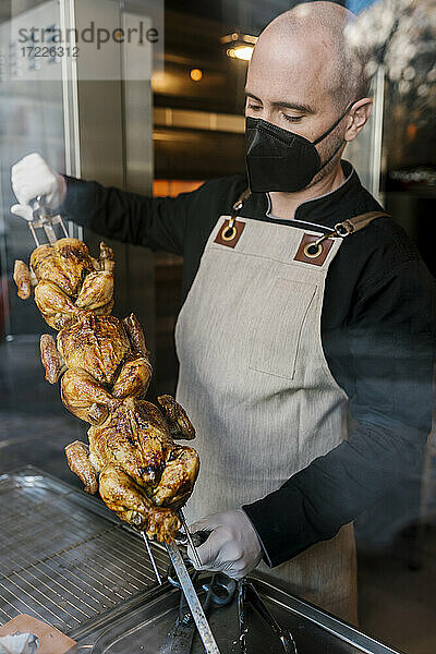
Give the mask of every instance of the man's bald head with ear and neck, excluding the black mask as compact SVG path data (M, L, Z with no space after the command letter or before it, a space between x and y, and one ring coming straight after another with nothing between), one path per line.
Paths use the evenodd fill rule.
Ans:
M340 179L346 144L371 113L365 60L348 40L353 19L332 2L299 4L264 29L249 65L245 116L315 145L323 166L310 186Z

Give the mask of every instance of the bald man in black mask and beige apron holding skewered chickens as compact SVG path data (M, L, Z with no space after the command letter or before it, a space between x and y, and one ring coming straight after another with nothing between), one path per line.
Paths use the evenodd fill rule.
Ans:
M341 161L371 111L364 60L343 38L351 19L313 2L261 35L246 82L252 193L233 215L243 177L146 198L65 179L37 155L13 168L12 210L28 218L46 194L99 234L184 256L178 399L198 434L186 511L211 532L202 562L239 578L264 559L355 620L349 523L419 470L436 308L419 254ZM339 238L335 226L362 215Z

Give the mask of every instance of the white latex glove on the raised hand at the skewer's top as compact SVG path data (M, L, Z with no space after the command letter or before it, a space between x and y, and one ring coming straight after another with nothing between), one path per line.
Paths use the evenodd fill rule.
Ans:
M12 214L25 220L32 220L33 214L28 203L38 195L45 196L46 206L57 209L65 199L66 182L36 153L27 155L12 166L12 189L20 204L11 207Z

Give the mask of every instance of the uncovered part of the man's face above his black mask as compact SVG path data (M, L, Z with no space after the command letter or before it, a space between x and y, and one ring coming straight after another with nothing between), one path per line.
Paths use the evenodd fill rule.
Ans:
M246 78L245 116L315 141L346 109L334 101L339 75L326 39L265 32L258 39ZM317 146L327 159L343 138L346 121Z

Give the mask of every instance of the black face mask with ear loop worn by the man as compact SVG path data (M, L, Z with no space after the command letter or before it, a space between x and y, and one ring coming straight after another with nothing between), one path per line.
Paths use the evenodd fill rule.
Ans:
M261 118L247 117L245 161L251 191L294 193L307 186L315 174L331 161L342 143L324 164L315 145L335 130L353 104L347 107L327 132L313 142Z

